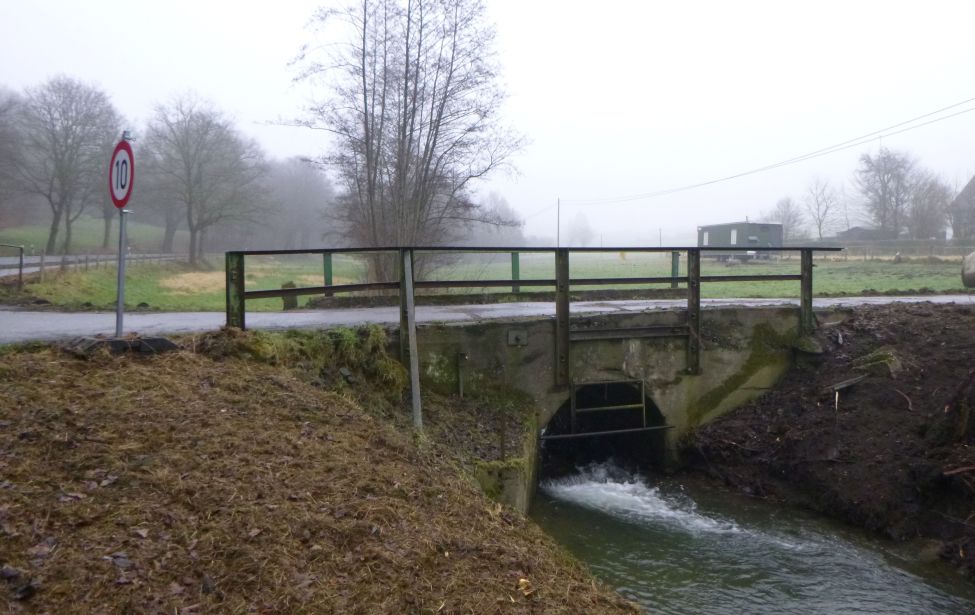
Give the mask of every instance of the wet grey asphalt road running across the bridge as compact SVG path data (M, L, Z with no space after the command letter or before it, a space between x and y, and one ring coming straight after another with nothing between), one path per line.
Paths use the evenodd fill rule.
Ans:
M932 295L922 297L843 297L815 299L817 308L886 303L958 303L975 305L972 295ZM798 305L789 299L705 299L705 308L770 305ZM656 301L577 301L572 314L606 314L677 309L683 300ZM458 323L481 320L552 318L555 304L495 303L487 305L418 306L417 322ZM125 333L165 335L200 333L219 329L225 322L222 312L134 312L125 315ZM317 329L370 323L399 324L396 307L295 310L290 312L251 312L247 326L253 329ZM81 336L114 335L114 312L25 311L0 307L0 344L32 340L54 341Z

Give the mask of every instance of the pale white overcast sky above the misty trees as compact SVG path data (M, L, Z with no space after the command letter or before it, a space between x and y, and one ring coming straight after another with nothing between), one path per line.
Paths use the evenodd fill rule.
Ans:
M314 156L324 133L272 125L310 92L288 66L311 40L315 0L4 0L0 85L59 73L104 89L139 129L193 90L275 157ZM487 0L509 93L530 144L502 195L526 232L563 238L585 215L605 245L682 244L699 224L801 200L815 176L843 186L858 157L910 152L959 188L975 174L975 111L838 153L735 175L975 98L975 2ZM940 116L975 109L975 100ZM893 131L888 131L893 132ZM138 154L136 154L138 155ZM598 240L597 240L598 241Z

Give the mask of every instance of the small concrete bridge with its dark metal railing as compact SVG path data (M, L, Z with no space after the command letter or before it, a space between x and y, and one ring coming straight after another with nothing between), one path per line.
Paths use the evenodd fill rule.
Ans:
M537 407L537 431L526 443L624 434L654 435L663 451L690 429L760 395L792 364L796 348L807 347L815 327L812 297L813 253L824 248L765 249L800 254L800 272L790 275L701 274L701 249L680 248L376 248L358 250L288 250L227 254L227 324L245 325L248 299L335 294L347 291L397 291L400 298L399 348L411 375L414 424L422 428L421 379L458 391L503 384L529 394ZM837 248L826 248L835 250ZM741 248L709 246L708 252L745 254ZM686 259L686 275L677 268L666 277L571 278L569 259L586 252L664 252ZM758 249L759 252L763 249ZM331 258L339 252L395 258L399 280L335 285ZM512 277L500 280L423 280L414 274L420 252L506 252ZM518 255L549 252L554 275L524 280ZM248 256L318 254L323 258L322 286L247 290ZM793 280L798 306L702 312L701 285L708 282ZM679 309L573 317L573 286L653 286L679 288L686 300ZM555 318L417 327L415 294L423 289L521 286L554 289ZM646 433L644 433L646 432ZM654 432L656 432L654 434Z

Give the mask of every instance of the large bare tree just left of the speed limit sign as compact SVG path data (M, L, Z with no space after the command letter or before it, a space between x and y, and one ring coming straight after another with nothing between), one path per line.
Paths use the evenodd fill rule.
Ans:
M108 96L68 77L55 77L27 90L17 114L20 152L14 162L16 185L42 197L51 208L47 252L71 249L72 224L85 208L106 198L109 149L121 117Z

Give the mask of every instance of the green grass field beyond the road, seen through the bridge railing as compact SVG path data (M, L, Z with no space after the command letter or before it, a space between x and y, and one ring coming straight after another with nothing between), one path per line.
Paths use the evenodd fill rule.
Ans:
M421 265L425 280L493 280L510 279L511 261L508 255L497 255L478 262L430 263ZM669 255L659 254L585 254L570 260L573 278L657 277L670 275ZM554 278L554 257L526 254L521 256L521 279ZM251 257L246 262L248 290L276 289L286 282L297 286L321 286L324 281L320 257ZM680 273L686 274L686 261L680 263ZM767 275L798 274L799 259L727 265L710 259L702 261L704 275ZM334 283L365 281L364 261L351 256L337 256L334 260ZM73 271L48 275L43 284L31 283L31 296L50 301L66 309L110 309L115 302L116 273L113 267L88 272ZM180 264L133 264L128 269L126 305L140 303L166 311L222 311L225 290L222 269L191 270ZM924 259L893 263L892 261L828 260L815 261L814 293L817 296L860 294L913 294L967 292L961 284L958 262ZM669 288L670 284L656 285ZM589 287L595 288L595 287ZM606 288L606 287L600 287ZM619 286L639 290L641 286ZM651 288L643 285L642 288ZM584 290L573 287L574 290ZM551 288L522 287L524 291ZM453 289L463 292L509 292L510 289ZM715 282L702 285L702 297L788 297L799 296L798 282ZM299 300L305 305L309 297ZM248 311L282 309L281 299L248 301Z

